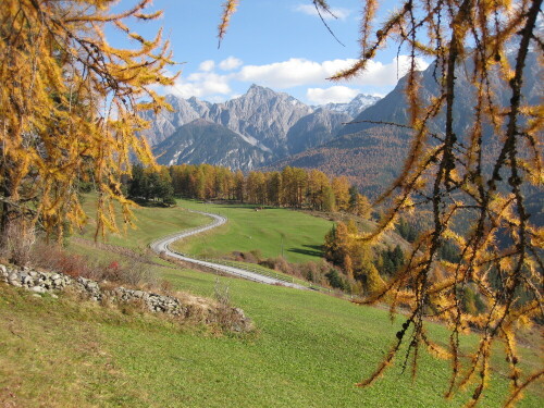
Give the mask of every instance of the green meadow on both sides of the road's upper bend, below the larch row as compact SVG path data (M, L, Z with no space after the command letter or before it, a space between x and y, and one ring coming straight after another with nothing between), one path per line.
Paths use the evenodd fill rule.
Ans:
M255 206L201 203L195 200L177 200L174 208L139 207L134 209L137 228L110 234L107 242L132 249L143 249L154 238L211 222L211 219L188 210L208 211L228 219L208 233L199 234L172 245L173 249L197 256L220 257L234 250L259 250L263 257L283 255L289 262L321 259L321 245L332 227L332 222L288 209L256 211ZM86 197L87 213L92 214L96 198ZM118 220L122 225L122 220ZM83 233L74 236L92 239L95 223L91 220Z

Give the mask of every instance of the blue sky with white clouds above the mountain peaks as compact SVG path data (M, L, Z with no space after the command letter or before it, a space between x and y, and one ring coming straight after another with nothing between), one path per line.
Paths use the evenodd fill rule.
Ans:
M392 48L381 52L360 77L342 83L326 81L359 54L360 0L330 0L337 18L327 17L326 22L344 46L327 32L309 0L242 0L218 49L222 3L154 0L153 9L162 9L163 17L131 25L147 37L162 26L174 60L182 63L175 87L162 92L218 102L244 94L255 83L305 103L322 104L347 102L359 92L385 95L403 75L406 59L400 55L397 64L397 50ZM380 1L381 18L396 3ZM122 0L119 7L131 4ZM109 37L114 44L121 41L119 34L109 32Z

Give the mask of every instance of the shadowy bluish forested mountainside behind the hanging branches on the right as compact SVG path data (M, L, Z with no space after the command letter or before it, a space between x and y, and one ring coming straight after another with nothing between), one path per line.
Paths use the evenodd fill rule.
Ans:
M510 53L509 58L514 58ZM418 75L421 76L421 88L418 90L421 102L429 102L437 96L440 84L435 81L436 63L431 64ZM472 84L470 63L459 66L456 71L455 84L457 94L453 104L455 122L454 131L463 134L477 121L472 109L477 88ZM523 100L526 103L535 103L542 99L544 89L542 82L542 65L537 61L537 53L530 52L527 61L527 81L523 83ZM508 104L508 90L498 81L498 72L492 72L490 88L494 103L499 107ZM413 132L409 124L409 101L406 95L408 76L400 78L397 86L383 99L370 106L350 123L345 124L336 137L322 146L310 148L289 158L269 164L269 169L281 169L285 165L305 169L320 169L327 174L347 175L360 188L368 190L369 196L375 197L400 174L403 163L410 151ZM440 143L444 129L445 113L430 120L431 132L436 133L435 144ZM498 154L499 141L494 140L492 126L483 124L485 138L482 151L484 165L491 165L491 160ZM528 149L523 154L530 157Z

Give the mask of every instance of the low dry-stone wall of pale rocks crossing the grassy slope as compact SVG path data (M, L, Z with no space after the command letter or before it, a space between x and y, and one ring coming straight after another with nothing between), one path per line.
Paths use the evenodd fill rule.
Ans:
M62 273L35 271L30 268L17 269L3 264L0 264L0 282L34 292L36 296L49 294L57 297L59 292L70 288L92 301L140 304L153 313L164 313L177 319L197 318L207 324L218 323L223 329L234 332L247 332L252 329L251 320L242 309L197 296L184 295L184 298L178 298L123 286L111 287L111 283L98 283L82 276L72 277Z

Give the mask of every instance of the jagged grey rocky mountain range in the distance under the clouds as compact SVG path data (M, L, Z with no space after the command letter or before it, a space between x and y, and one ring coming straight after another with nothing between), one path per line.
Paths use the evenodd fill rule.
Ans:
M207 161L210 164L250 170L331 140L354 113L366 109L376 97L359 95L349 103L310 107L287 94L252 85L245 95L224 103L173 95L166 100L172 112L157 116L144 113L151 122L144 136L159 163L198 163L206 159L211 160ZM203 120L207 125L201 121L194 123L196 120ZM185 126L189 127L184 129ZM212 139L200 132L202 128L220 134L221 144L207 144ZM202 149L212 149L213 153Z

